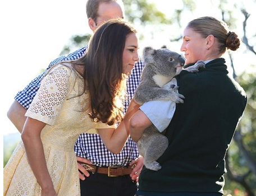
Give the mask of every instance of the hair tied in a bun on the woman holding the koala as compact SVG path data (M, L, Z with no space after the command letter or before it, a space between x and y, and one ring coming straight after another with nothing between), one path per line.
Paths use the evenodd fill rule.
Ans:
M240 46L240 40L235 32L228 31L226 22L214 17L205 16L189 22L189 28L198 32L203 38L213 35L218 40L220 54L226 52L226 48L236 50Z

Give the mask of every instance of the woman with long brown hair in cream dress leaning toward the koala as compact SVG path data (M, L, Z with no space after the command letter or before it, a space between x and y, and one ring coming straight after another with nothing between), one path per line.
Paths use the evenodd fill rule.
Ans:
M138 60L136 30L110 20L94 32L82 58L54 65L4 167L3 195L80 195L76 139L87 130L98 133L109 151L122 150L136 111L131 103L122 116L126 75Z

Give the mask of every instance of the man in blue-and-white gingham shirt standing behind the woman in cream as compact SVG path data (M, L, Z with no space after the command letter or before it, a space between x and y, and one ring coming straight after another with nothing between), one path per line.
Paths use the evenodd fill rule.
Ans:
M92 7L92 2L95 3L96 1L99 2L98 7ZM122 2L115 0L109 0L108 2L106 2L106 0L88 0L88 3L86 4L86 13L89 18L90 28L94 31L104 20L108 20L109 18L113 17L123 17L122 7ZM97 16L90 15L90 12L92 12L93 8L94 10L97 9ZM115 13L115 16L109 15L110 11ZM119 13L119 16L117 16L117 13ZM28 86L24 88L24 90L17 93L15 96L15 101L13 102L7 115L20 132L22 131L22 127L26 119L24 116L26 109L29 108L29 105L34 99L34 96L40 87L42 77L47 72L47 70L53 64L62 62L63 60L77 59L82 57L86 49L87 46L84 46L83 48L76 50L74 53L53 60L43 74L36 77L29 83ZM135 68L127 80L128 95L127 101L124 104L125 111L129 105L129 102L131 101L132 96L134 95L136 87L140 82L140 75L143 66L144 65L141 61L136 62ZM121 195L134 195L136 193L136 181L138 181L138 176L143 166L143 158L139 157L136 143L132 141L130 137L127 139L123 150L118 155L115 155L107 150L98 134L84 133L81 134L76 141L75 153L77 155L77 161L84 162L88 164L89 167L90 164L99 166L97 167L96 171L88 172L90 170L86 171L83 166L78 164L79 170L84 173L84 175L80 174L80 179L84 180L85 176L88 177L90 175L90 178L86 178L84 181L80 180L81 195L100 195L101 191L103 195L111 195L111 193L115 194L115 192L120 193ZM134 165L135 167L132 169L130 175L121 175L116 176L115 178L111 178L109 177L109 174L97 174L97 170L99 168L102 169L103 167L108 167L109 170L109 168L112 169L110 166L117 166L122 167L122 169L126 169L126 166L129 164L133 165L135 163L136 165ZM115 184L115 182L117 184ZM95 184L97 184L96 190L92 188L92 186ZM113 190L113 186L118 186L117 190Z

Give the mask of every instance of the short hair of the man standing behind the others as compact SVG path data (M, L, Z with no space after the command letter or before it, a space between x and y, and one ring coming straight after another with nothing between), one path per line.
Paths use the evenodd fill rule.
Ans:
M111 2L117 2L118 4L120 4L122 10L124 10L124 3L122 2L122 0L88 0L86 3L87 17L92 18L96 22L98 17L99 4Z

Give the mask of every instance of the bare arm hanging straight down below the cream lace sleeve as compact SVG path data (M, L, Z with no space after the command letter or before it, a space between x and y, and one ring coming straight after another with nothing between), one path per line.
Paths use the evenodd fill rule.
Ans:
M44 127L45 123L28 117L22 130L21 138L30 167L42 188L42 195L57 195L47 169L43 143L40 137Z

